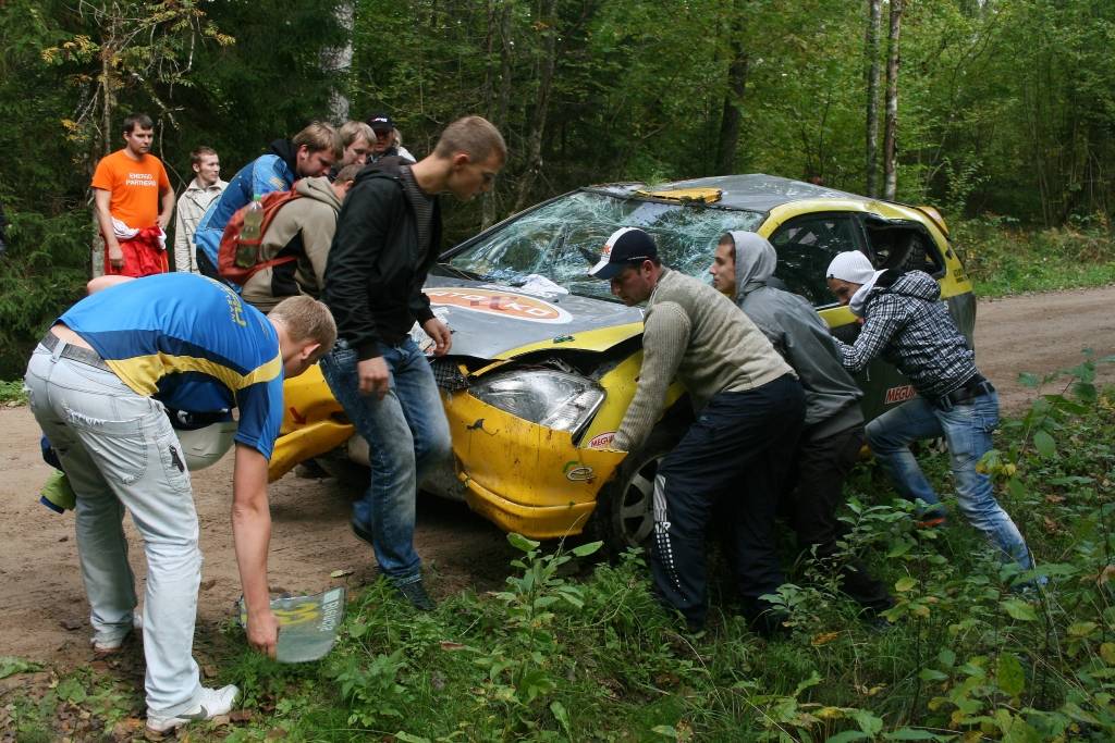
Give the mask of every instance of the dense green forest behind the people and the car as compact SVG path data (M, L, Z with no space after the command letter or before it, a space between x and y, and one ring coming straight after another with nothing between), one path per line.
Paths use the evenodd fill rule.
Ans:
M453 241L590 183L760 172L1109 246L1113 46L1106 0L4 0L0 379L81 293L132 111L180 193L198 145L227 179L313 119L387 111L423 156L482 114L510 160Z

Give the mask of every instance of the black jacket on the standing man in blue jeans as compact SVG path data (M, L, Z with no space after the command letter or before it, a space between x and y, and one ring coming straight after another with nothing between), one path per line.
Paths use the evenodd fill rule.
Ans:
M360 170L337 218L322 295L338 338L356 349L360 361L381 355L379 343L399 343L416 321L434 316L421 287L440 245L438 202L429 251L419 255L418 219L398 168Z

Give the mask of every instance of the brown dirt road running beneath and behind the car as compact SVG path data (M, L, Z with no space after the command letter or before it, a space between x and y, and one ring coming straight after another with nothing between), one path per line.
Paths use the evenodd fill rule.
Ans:
M1017 411L1032 391L1020 388L1019 372L1045 373L1075 365L1080 349L1115 353L1115 287L981 302L977 323L979 365L1000 390L1004 407ZM1115 382L1115 364L1102 380ZM49 470L39 456L38 428L27 408L0 409L0 655L61 665L84 664L88 607L81 588L72 514L57 516L37 500ZM213 632L231 616L240 595L229 519L231 458L194 478L206 556L198 606L200 632ZM272 487L274 520L270 567L272 586L289 592L320 590L338 581L350 586L374 575L371 550L348 529L353 493L332 480L288 475ZM430 587L445 596L466 586L502 583L512 550L503 535L459 504L421 499L418 551L432 574ZM143 559L130 522L133 564ZM334 570L351 575L331 579Z

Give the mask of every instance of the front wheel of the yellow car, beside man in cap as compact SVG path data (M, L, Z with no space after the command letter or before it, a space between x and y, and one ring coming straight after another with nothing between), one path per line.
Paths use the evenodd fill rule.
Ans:
M615 477L600 489L590 529L594 539L604 542L610 558L618 559L631 547L650 549L655 476L679 439L677 433L656 429L647 443L628 454Z

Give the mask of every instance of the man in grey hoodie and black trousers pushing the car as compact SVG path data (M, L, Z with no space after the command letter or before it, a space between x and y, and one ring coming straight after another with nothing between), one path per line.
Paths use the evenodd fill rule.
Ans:
M836 540L846 532L836 518L844 502L844 478L863 447L863 392L841 365L832 334L813 306L767 285L777 261L765 237L731 232L720 237L709 273L712 285L735 300L802 381L805 427L779 510L798 547L831 563L841 551ZM886 587L859 560L841 560L834 567L844 593L863 607L878 612L893 604Z

